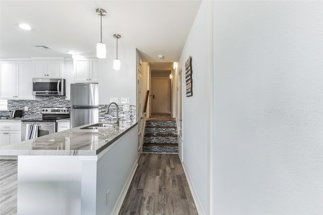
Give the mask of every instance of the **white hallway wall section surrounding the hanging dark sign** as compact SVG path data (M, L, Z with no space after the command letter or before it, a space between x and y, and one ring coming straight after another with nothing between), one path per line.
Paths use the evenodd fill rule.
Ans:
M190 33L183 48L179 66L183 75L183 162L188 170L199 199L208 214L208 138L209 138L209 88L207 79L207 40L206 35L207 4L201 3ZM198 41L198 42L197 42ZM192 56L193 96L186 97L185 62ZM209 72L209 71L208 71Z

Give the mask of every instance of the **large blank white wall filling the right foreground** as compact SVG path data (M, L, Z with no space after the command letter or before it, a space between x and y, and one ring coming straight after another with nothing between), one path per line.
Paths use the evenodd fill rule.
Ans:
M214 214L323 214L322 2L214 2Z

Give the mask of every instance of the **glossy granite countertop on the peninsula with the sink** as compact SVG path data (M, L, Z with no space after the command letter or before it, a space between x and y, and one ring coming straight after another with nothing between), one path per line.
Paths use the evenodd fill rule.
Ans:
M84 125L0 147L0 155L97 155L136 125L120 123L116 128L81 129L88 126Z

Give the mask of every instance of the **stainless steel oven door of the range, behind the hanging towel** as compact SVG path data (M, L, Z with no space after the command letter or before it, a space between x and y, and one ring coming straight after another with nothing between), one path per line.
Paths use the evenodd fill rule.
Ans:
M21 141L26 140L28 137L28 125L29 124L34 124L38 126L38 136L45 136L47 134L52 134L56 132L56 122L46 122L46 123L26 123L23 122L21 123Z

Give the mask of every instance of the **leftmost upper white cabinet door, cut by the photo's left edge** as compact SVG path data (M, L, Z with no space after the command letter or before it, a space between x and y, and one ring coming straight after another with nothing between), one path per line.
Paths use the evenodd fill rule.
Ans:
M16 98L16 62L1 62L1 98ZM30 82L31 85L31 82Z

